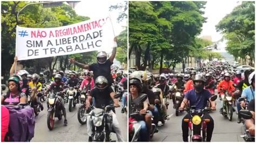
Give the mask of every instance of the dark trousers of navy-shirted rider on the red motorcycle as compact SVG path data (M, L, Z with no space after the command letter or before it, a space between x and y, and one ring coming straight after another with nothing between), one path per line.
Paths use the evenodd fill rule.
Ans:
M188 142L188 123L184 121L184 119L190 119L191 116L190 114L187 114L183 119L182 119L182 133L183 133L183 141L184 142ZM212 132L213 132L213 128L214 128L214 121L212 119L212 117L210 115L208 115L207 113L204 114L204 118L205 119L210 119L210 122L206 123L207 125L207 137L206 137L206 141L210 142L212 139Z

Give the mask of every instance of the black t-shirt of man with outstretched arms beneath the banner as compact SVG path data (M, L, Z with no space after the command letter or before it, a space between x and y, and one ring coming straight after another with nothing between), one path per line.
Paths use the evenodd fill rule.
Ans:
M110 68L112 64L113 62L111 62L110 59L107 59L103 64L92 63L92 65L89 65L89 70L93 71L93 80L96 80L98 76L104 76L106 77L108 84L111 86L114 82L111 76Z

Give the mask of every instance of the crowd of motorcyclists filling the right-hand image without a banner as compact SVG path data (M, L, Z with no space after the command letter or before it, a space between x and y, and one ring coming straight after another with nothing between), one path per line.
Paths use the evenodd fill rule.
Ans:
M181 125L183 141L189 141L189 130L190 141L211 141L214 119L209 113L216 110L214 100L218 97L221 115L232 120L233 112L237 112L237 123L242 120L245 126L245 141L248 137L254 141L254 69L241 72L221 61L209 65L175 74L129 71L129 141L150 141L158 127L169 120L169 99L176 116L187 111ZM252 117L243 118L240 110L250 110Z

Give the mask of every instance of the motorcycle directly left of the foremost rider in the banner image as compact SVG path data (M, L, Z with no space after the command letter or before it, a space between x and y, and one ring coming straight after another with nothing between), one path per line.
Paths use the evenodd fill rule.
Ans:
M80 96L80 105L77 111L77 119L79 121L80 124L84 125L86 124L87 121L87 115L91 112L92 107L89 107L86 110L86 97L87 95L90 93L90 91L87 91L87 93L83 90L81 92L81 96Z

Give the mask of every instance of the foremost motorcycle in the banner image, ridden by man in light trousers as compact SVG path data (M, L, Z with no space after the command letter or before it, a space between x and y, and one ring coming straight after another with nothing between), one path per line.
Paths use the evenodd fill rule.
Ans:
M114 98L119 98L114 95ZM92 108L92 111L86 116L90 116L92 127L92 142L110 142L112 128L112 115L111 110L114 110L113 105L107 105L104 109Z

